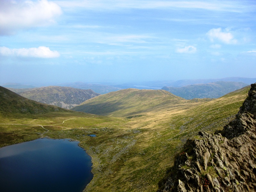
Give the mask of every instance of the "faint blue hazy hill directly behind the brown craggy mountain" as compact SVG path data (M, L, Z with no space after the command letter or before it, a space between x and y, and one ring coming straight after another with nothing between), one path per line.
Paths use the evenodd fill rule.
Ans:
M113 86L104 85L104 84L87 84L83 82L60 84L59 86L73 87L77 89L92 89L94 92L100 93L100 94L118 91L121 89L118 87L113 87Z

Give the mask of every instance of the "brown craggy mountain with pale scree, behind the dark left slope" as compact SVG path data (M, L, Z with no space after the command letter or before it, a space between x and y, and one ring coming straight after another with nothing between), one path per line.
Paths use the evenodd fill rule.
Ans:
M90 89L83 90L59 86L40 87L31 91L20 92L19 94L40 103L55 105L66 109L73 108L85 100L100 95Z

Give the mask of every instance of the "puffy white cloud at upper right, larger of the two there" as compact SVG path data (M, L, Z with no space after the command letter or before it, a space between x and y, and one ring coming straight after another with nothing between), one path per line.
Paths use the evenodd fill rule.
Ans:
M214 40L219 40L225 44L236 44L237 40L234 39L234 36L228 29L222 31L221 28L212 28L209 30L206 35L210 38L212 42Z

